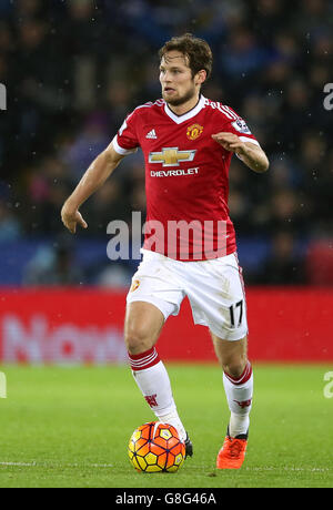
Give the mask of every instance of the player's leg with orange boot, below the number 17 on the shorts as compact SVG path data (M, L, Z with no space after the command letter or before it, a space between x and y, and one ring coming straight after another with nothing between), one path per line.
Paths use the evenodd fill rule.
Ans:
M223 385L230 409L230 421L216 466L238 469L242 466L250 426L253 374L248 359L248 339L224 340L212 334L218 359L223 370Z

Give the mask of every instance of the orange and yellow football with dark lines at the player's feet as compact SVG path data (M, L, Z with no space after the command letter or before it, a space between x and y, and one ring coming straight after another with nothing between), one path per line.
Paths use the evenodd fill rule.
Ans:
M150 421L132 434L129 457L137 471L175 472L185 459L185 445L172 425Z

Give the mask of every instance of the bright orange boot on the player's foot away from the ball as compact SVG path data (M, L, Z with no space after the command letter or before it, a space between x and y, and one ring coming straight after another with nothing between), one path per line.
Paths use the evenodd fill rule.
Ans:
M244 462L248 446L248 434L241 434L235 438L228 435L224 439L223 447L216 458L218 469L240 469Z

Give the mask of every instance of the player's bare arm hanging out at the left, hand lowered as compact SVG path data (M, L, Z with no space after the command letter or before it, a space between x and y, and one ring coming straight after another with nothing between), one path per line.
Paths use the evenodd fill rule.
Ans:
M113 147L113 142L111 142L91 163L73 193L64 202L61 220L72 234L75 233L78 224L83 228L88 227L79 212L80 206L104 184L123 157L124 154L119 154Z

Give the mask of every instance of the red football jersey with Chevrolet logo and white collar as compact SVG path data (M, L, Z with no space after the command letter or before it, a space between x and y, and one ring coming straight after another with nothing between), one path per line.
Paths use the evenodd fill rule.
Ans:
M233 153L211 137L221 131L259 144L231 108L203 95L183 115L160 99L138 106L123 122L113 139L114 150L129 154L141 146L144 154L144 248L180 261L235 252L228 207Z

